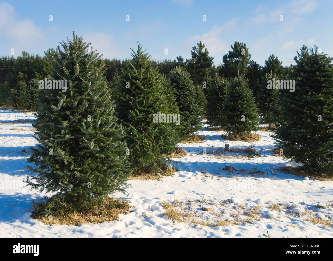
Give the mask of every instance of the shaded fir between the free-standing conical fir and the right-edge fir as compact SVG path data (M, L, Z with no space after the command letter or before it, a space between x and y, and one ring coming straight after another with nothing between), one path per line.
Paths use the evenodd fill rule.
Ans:
M279 81L279 76L266 73L265 77L261 79L260 93L259 93L259 114L262 117L260 123L267 123L268 127L271 128L274 123L275 115L279 112L279 90L278 89L267 89L268 81Z

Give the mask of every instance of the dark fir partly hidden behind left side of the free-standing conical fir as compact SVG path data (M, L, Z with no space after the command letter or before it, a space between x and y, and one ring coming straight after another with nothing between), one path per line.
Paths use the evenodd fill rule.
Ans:
M207 95L207 123L218 126L219 118L223 116L224 102L229 94L228 80L215 74L210 81Z

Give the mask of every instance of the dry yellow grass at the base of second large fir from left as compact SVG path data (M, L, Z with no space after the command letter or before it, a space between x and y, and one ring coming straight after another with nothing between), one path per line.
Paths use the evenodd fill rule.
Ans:
M171 164L163 164L157 169L150 169L149 167L143 167L136 171L133 171L132 176L128 179L132 180L161 180L163 176L173 176L176 168Z

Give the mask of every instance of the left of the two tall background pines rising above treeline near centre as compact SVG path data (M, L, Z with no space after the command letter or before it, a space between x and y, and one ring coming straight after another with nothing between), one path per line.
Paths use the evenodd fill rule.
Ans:
M195 84L202 84L203 78L210 74L213 65L214 57L209 56L207 48L204 47L201 41L197 43L197 47L193 46L192 59L187 60L187 68Z

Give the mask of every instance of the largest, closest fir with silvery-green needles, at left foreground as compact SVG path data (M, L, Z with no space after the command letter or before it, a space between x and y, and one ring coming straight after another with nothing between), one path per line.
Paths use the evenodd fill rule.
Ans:
M54 193L35 204L34 215L96 209L127 187L126 143L106 88L104 61L73 33L50 55L49 80L67 81L67 90L42 90L34 127L37 147L27 166L37 176L27 186Z

